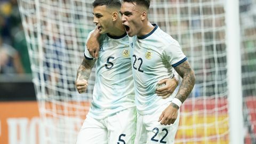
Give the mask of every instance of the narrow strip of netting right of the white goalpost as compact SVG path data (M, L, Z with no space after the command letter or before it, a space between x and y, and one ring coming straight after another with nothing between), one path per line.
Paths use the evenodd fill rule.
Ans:
M256 143L256 1L240 1L245 143Z

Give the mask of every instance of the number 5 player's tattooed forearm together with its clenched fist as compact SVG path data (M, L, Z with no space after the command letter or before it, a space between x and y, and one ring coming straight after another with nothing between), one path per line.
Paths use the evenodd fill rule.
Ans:
M88 86L88 79L90 77L92 67L95 63L96 59L87 60L84 58L83 62L79 66L77 70L76 76L76 89L79 93L83 93L86 91Z

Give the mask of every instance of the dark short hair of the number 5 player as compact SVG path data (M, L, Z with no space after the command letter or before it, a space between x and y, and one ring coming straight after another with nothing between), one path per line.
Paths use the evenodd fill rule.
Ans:
M93 7L102 6L102 5L106 5L106 7L108 7L108 8L111 8L111 7L120 8L121 2L119 0L95 0L92 3Z

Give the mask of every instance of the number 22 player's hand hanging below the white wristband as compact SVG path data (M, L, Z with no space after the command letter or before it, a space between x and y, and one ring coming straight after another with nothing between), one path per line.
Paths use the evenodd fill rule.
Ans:
M167 108L165 108L165 110L163 111L163 113L161 114L161 116L158 119L158 122L161 121L160 123L163 125L173 124L178 117L178 109L179 108L173 107L172 104L173 103L171 103L171 105L169 105Z

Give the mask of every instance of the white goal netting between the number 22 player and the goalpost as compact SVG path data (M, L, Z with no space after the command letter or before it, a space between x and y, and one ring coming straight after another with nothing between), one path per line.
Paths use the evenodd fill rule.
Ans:
M196 85L175 143L228 143L224 1L152 1L151 21L180 42Z

